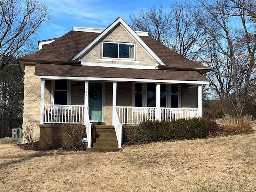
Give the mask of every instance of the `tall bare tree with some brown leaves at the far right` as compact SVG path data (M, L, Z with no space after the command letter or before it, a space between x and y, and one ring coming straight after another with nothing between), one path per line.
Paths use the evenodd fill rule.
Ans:
M255 1L199 0L198 2L205 10L202 27L214 41L217 52L224 58L222 62L212 63L215 76L219 83L223 78L231 83L232 89L229 88L225 92L229 94L229 98L234 98L232 104L236 114L241 116L248 98L248 88L253 80L252 76L256 72ZM226 66L219 70L223 65ZM220 84L220 87L225 88L223 84ZM216 87L215 90L217 92L218 88Z

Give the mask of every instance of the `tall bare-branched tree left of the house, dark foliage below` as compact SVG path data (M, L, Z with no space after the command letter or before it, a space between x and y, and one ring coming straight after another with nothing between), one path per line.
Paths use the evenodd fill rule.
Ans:
M40 0L0 0L1 137L22 125L23 82L15 58L36 50L35 35L49 22L50 10Z

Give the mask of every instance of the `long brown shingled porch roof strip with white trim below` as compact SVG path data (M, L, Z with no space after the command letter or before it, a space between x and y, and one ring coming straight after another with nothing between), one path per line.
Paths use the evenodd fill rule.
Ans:
M196 71L131 69L101 66L79 66L59 64L36 64L35 75L38 78L56 78L70 80L86 80L86 78L110 78L111 80L129 81L128 79L194 81L208 83L208 79ZM89 80L89 79L87 79ZM106 79L105 79L106 80ZM200 84L200 83L199 83Z

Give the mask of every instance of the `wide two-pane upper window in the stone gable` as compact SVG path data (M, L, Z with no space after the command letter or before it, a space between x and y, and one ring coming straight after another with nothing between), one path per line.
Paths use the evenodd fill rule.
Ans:
M103 42L103 58L134 59L134 44Z

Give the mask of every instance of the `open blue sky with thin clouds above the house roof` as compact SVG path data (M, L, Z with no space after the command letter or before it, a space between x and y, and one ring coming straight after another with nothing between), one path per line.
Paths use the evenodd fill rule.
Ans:
M43 0L52 10L52 23L44 25L38 40L60 37L72 26L106 28L122 17L130 24L130 14L138 16L142 8L163 6L168 10L173 0ZM181 0L180 0L181 1Z

